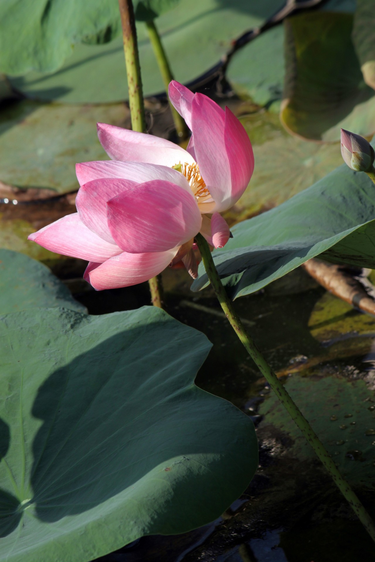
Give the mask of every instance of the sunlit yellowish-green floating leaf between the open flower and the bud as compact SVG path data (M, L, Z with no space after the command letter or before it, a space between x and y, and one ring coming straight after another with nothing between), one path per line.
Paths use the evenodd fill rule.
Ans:
M251 139L255 169L249 188L225 213L231 224L280 205L342 164L339 144L292 136L277 114L260 111L240 120Z

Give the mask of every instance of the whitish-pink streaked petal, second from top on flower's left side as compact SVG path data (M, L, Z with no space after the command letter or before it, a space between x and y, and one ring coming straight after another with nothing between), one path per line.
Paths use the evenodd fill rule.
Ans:
M191 158L189 156L189 158ZM179 185L191 193L187 179L177 170L167 166L157 166L146 162L115 162L112 160L98 160L96 162L82 162L76 164L75 173L80 185L92 182L94 179L119 178L131 182L144 183L153 179L161 179Z

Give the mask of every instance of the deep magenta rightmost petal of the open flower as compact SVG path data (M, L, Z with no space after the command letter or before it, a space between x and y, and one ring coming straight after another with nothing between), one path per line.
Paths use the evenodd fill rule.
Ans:
M231 207L250 182L254 171L254 154L249 135L228 107L225 107L224 139L231 169Z

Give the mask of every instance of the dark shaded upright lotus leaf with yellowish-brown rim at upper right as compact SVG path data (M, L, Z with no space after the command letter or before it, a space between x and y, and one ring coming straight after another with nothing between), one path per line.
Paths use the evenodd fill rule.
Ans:
M375 93L364 83L351 40L353 16L302 13L285 22L286 80L281 120L313 140L338 140L340 128L375 131Z

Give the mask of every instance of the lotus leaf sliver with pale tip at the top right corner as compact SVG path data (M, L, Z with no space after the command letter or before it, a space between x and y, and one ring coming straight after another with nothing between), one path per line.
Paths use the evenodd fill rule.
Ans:
M357 0L354 15L353 43L365 83L375 89L375 11L372 0Z

